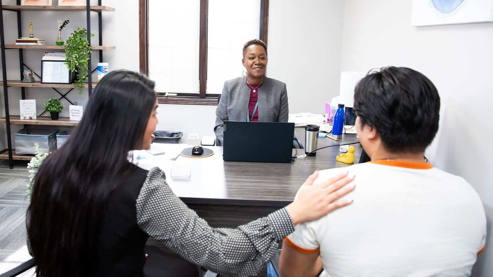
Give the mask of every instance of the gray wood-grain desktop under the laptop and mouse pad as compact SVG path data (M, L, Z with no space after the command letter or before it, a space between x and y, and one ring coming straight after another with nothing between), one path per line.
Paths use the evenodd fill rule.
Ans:
M305 142L303 127L295 128L302 145ZM356 142L354 134L343 135L341 141L319 138L318 148L339 143ZM355 161L361 155L361 146L353 144ZM222 147L205 146L214 151L207 158L186 158L176 160L148 159L139 161L143 169L159 167L166 173L167 181L174 193L185 203L260 205L282 207L293 201L296 192L305 179L315 170L346 167L349 164L336 161L341 154L339 147L329 147L317 151L314 157L295 159L291 163L249 163L224 162ZM304 149L297 149L304 154ZM293 155L296 150L293 149ZM185 165L191 169L188 179L171 177L173 165Z

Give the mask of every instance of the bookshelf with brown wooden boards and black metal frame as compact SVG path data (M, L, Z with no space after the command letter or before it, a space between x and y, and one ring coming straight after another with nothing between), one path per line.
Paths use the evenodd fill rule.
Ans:
M98 5L90 5L90 0L86 0L86 5L85 6L34 6L34 5L20 5L21 0L16 0L17 5L3 5L2 0L0 0L0 6L2 8L2 11L13 11L17 14L17 29L18 29L18 37L22 36L22 28L21 28L21 15L22 11L73 11L73 12L85 12L86 13L86 29L87 29L87 34L88 37L90 37L91 34L91 13L96 12L98 14L98 31L99 31L99 43L98 45L91 45L91 50L93 51L99 51L99 62L103 62L103 50L111 50L115 49L115 46L106 46L103 44L103 21L102 21L102 14L103 12L113 12L115 11L114 8L104 6L102 5L102 0L98 0ZM2 83L3 83L3 92L4 92L4 108L5 108L5 116L0 117L0 124L5 124L6 126L6 135L7 135L7 148L1 150L0 149L0 159L6 159L9 160L9 166L12 169L13 168L13 160L26 160L29 161L34 155L16 155L15 154L15 149L12 147L12 139L11 139L11 132L10 132L10 127L12 124L21 124L24 126L29 126L29 125L48 125L48 126L76 126L78 124L78 121L71 121L67 117L60 117L58 120L51 120L51 117L49 116L37 116L36 119L28 119L28 120L21 120L19 115L10 115L9 112L9 107L8 107L8 88L9 87L20 87L21 88L21 97L20 99L25 100L25 88L53 88L60 96L62 96L60 99L65 98L67 101L69 101L66 98L66 95L70 92L66 92L62 94L55 88L66 88L66 89L73 89L73 85L70 84L41 84L40 81L35 81L34 83L24 83L22 80L7 80L7 72L6 72L6 61L5 61L5 50L9 49L17 49L19 51L19 64L20 64L20 75L23 75L24 69L27 68L27 66L24 64L24 56L23 56L23 51L24 50L31 50L31 49L46 49L46 50L65 50L65 46L59 46L59 45L15 45L15 44L6 44L5 43L5 37L4 37L4 30L7 30L9 28L12 28L11 26L5 26L7 22L4 22L3 18L3 13L0 13L0 41L1 41L1 62L2 62ZM15 23L10 23L9 24L15 24ZM9 37L9 39L11 39ZM14 40L15 41L15 40ZM9 41L10 42L10 41ZM90 42L90 41L89 41ZM92 57L90 56L91 60ZM91 65L91 60L89 61L89 65ZM87 83L85 87L88 90L89 97L91 96L92 90L96 87L97 83L92 81L92 76L89 74L87 78ZM35 97L30 97L30 99L35 99ZM69 101L70 102L70 101ZM71 102L70 102L71 103Z

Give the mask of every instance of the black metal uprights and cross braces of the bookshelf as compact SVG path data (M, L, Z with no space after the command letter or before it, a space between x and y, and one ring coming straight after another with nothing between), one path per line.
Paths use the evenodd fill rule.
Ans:
M101 1L102 0L98 0L98 6L102 6L101 4ZM21 0L17 0L17 5L21 5ZM12 138L11 138L11 132L10 132L10 125L13 124L10 122L10 112L9 112L9 107L8 107L8 86L7 86L7 69L6 69L6 59L5 59L5 37L4 37L4 22L3 22L3 10L8 10L8 11L13 11L15 13L17 13L17 33L18 33L18 37L21 37L22 36L22 26L21 26L21 10L23 9L10 9L10 8L3 8L3 5L2 5L2 1L0 0L0 6L2 6L2 12L0 12L0 44L1 44L1 50L0 50L0 53L1 53L1 65L2 65L2 77L3 77L3 98L4 98L4 108L5 108L5 124L6 124L6 130L7 130L7 148L6 149L3 149L3 150L0 150L0 153L5 153L5 152L8 152L8 161L9 161L9 167L10 169L13 169L14 168L14 159L13 159L13 150L12 150ZM92 6L94 7L94 6ZM39 10L43 10L43 9L39 9ZM62 10L62 9L61 9ZM80 11L84 11L84 9L79 9ZM114 9L113 9L114 10ZM86 12L86 20L87 20L87 37L88 37L88 41L89 41L89 45L91 45L91 12L97 12L98 13L98 31L99 31L99 45L103 45L103 18L102 18L102 9L91 9L91 5L90 5L90 0L86 0L86 8L85 8L85 12ZM8 49L12 49L12 48L8 48ZM22 78L24 77L23 75L23 71L24 71L24 68L27 66L25 65L24 63L24 55L23 55L23 49L22 48L19 48L19 66L20 66L20 78L22 80ZM99 62L103 62L103 50L97 50L99 51ZM88 65L89 65L89 68L90 65L91 65L91 61L92 61L92 57L91 57L91 53L89 53L89 61L88 61ZM93 70L94 71L94 70ZM36 74L37 75L37 74ZM89 73L88 74L88 77L87 77L87 80L88 80L88 90L89 90L89 97L91 97L91 94L92 94L92 74ZM59 92L58 90L56 90L56 92L58 92L62 97L62 98L66 98L67 94L71 91L72 89L70 89L67 93L65 94L62 94L61 92ZM25 100L26 99L26 89L25 87L21 87L21 98L22 100ZM67 101L69 101L67 99ZM69 101L69 103L71 103ZM44 113L44 112L43 112ZM27 126L26 124L24 126Z

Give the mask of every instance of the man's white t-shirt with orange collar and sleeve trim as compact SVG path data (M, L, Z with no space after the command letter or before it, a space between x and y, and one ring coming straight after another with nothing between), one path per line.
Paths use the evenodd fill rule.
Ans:
M398 161L324 170L317 181L346 171L356 189L343 199L354 202L286 238L300 252L320 251L325 276L470 276L486 242L486 216L469 183Z

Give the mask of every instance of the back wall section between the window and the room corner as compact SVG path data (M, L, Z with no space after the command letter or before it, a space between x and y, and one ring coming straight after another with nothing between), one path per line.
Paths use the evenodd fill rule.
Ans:
M270 0L267 75L287 86L289 112L325 114L339 95L344 0Z

